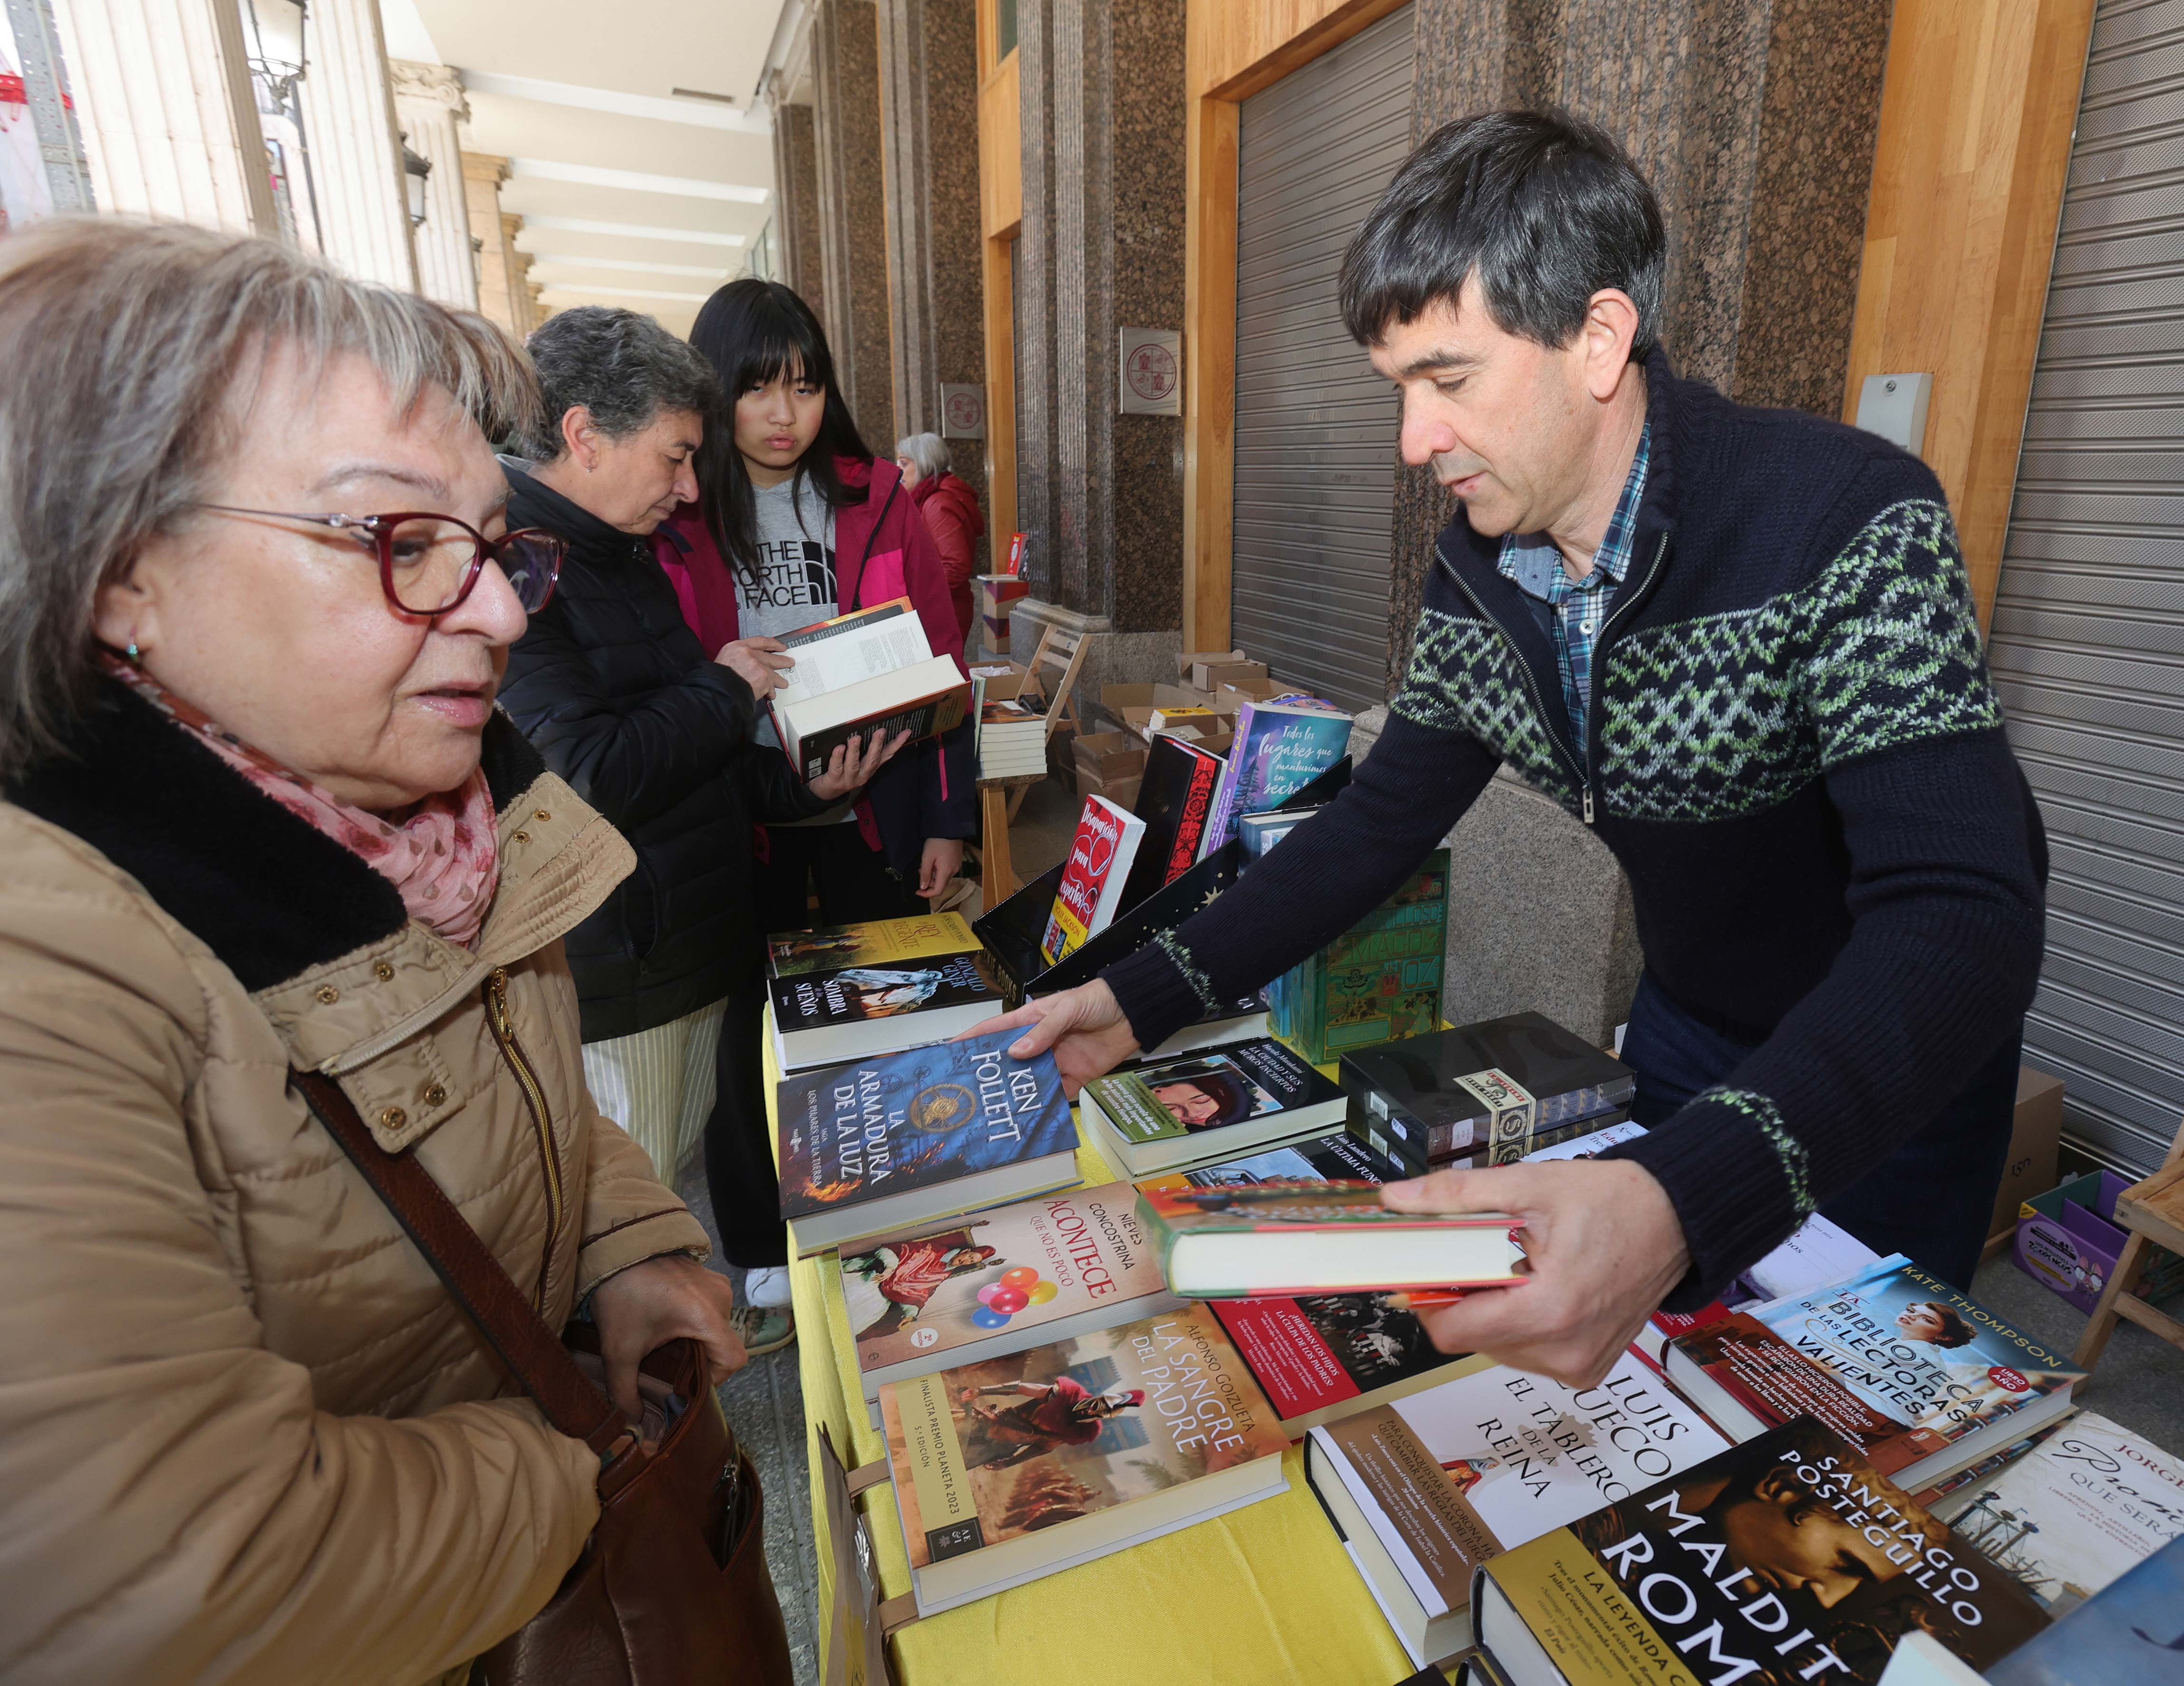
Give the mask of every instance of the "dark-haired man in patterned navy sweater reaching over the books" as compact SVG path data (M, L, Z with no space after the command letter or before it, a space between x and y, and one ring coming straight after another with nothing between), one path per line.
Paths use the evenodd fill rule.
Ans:
M1077 1081L1155 1046L1380 904L1507 764L1629 874L1651 1133L1387 1201L1518 1212L1531 1280L1428 1332L1568 1382L1815 1210L1966 1282L2042 950L2040 817L1939 485L1677 380L1662 269L1653 192L1590 124L1465 118L1404 164L1343 312L1463 513L1387 729L1236 889L1013 1016Z

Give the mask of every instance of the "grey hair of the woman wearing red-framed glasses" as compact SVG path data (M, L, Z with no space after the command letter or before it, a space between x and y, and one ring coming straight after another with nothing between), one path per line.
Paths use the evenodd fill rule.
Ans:
M81 216L0 240L0 777L66 751L98 590L194 513L275 349L365 358L397 413L441 389L487 439L537 419L485 317L273 240Z

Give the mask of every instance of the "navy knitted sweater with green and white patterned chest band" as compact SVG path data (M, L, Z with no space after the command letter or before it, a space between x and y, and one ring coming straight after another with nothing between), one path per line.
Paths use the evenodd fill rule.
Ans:
M1915 456L1647 360L1653 456L1579 764L1555 649L1461 518L1350 788L1107 970L1142 1046L1265 985L1404 880L1500 762L1594 826L1645 963L1760 1046L1618 1149L1712 1297L1926 1123L2025 1013L2046 845L1942 487ZM1461 909L1450 909L1461 917Z

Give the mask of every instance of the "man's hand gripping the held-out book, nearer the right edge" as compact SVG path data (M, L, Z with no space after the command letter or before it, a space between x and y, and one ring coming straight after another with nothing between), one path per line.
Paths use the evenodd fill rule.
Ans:
M1566 1387L1594 1387L1690 1269L1666 1190L1629 1160L1437 1171L1389 1184L1380 1199L1398 1212L1522 1221L1531 1275L1420 1310L1417 1321L1441 1352L1485 1352Z

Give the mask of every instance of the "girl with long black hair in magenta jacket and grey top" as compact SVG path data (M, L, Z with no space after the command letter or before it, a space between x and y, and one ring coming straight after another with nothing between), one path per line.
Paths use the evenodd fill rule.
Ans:
M834 358L810 306L780 282L740 280L699 310L690 343L721 378L721 411L697 454L699 502L662 529L655 555L705 649L745 640L775 670L782 633L906 596L937 653L961 668L948 579L902 472L874 459L834 384ZM771 721L762 734L771 740ZM970 727L911 745L863 797L817 819L767 826L753 880L762 930L806 930L924 913L976 828ZM817 911L810 902L817 895ZM760 957L751 954L753 978ZM753 992L751 1000L762 1000ZM705 1133L714 1210L764 1149L756 1007L721 1029L721 1092ZM729 1044L743 1068L729 1074ZM740 1118L734 1114L743 1114ZM723 1227L725 1227L723 1219ZM782 1225L771 1256L786 1260ZM729 1258L749 1251L723 1236ZM751 1271L751 1304L788 1304L786 1271Z

